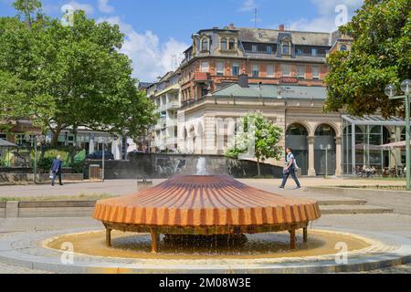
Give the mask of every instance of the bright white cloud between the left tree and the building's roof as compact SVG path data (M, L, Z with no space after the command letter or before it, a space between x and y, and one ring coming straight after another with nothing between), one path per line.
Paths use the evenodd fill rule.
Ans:
M187 44L170 37L165 43L152 31L136 32L132 26L123 23L119 16L100 18L99 22L107 21L121 27L125 35L121 53L132 59L133 75L142 81L155 81L166 72L174 70L179 65Z

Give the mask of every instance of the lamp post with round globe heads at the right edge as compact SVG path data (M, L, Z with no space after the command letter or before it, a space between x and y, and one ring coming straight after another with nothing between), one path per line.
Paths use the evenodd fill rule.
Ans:
M406 79L401 83L401 90L406 94L395 96L396 89L394 85L388 85L385 88L385 94L390 99L406 99L406 190L411 191L411 152L410 152L410 86L411 80Z

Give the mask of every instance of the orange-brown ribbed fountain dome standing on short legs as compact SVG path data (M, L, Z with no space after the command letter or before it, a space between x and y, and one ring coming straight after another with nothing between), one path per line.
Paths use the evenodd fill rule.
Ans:
M94 218L111 230L151 233L152 252L159 235L245 235L296 230L307 241L310 221L321 217L314 201L292 199L240 183L228 176L175 176L151 189L101 200Z

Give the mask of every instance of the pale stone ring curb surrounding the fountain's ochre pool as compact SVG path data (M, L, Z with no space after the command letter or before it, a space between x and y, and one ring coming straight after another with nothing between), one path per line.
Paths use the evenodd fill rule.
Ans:
M91 230L92 231L92 230ZM323 231L321 229L321 231ZM325 230L326 231L326 230ZM6 265L29 269L69 274L290 274L290 273L348 273L401 266L411 263L411 240L394 236L396 242L406 245L384 249L370 255L351 255L349 264L339 266L327 256L300 258L283 262L253 260L219 260L213 266L205 261L166 261L104 258L98 256L75 255L74 265L63 265L62 253L42 247L45 239L63 234L90 232L77 229L59 232L41 232L2 236L0 241L0 261ZM372 233L371 235L381 235ZM392 241L388 235L381 235ZM379 237L379 236L377 236ZM370 251L371 252L371 251ZM284 261L285 260L285 261ZM170 262L167 265L167 262ZM178 263L178 264L175 264ZM182 267L184 266L184 267ZM247 266L247 267L245 267Z

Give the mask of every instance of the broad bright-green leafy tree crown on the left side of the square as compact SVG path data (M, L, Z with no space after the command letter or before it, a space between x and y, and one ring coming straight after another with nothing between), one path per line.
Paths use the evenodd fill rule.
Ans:
M15 6L19 17L0 18L0 103L7 109L1 120L30 117L52 131L54 145L61 130L76 134L83 126L137 138L155 124L155 106L120 53L119 26L98 24L82 11L64 26L43 16L37 1Z

